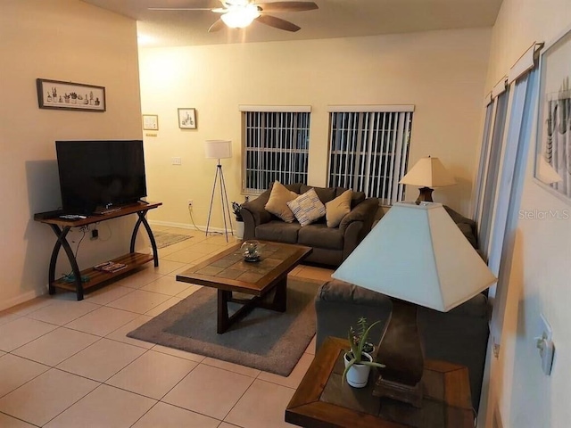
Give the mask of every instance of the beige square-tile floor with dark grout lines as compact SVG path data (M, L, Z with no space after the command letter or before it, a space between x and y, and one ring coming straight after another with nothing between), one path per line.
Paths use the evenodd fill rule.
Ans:
M227 247L223 236L154 226L192 238L159 251L137 274L76 301L58 293L0 312L0 427L279 428L315 354L288 377L126 337L200 287L178 272ZM230 238L230 244L235 243ZM329 279L299 266L292 276Z

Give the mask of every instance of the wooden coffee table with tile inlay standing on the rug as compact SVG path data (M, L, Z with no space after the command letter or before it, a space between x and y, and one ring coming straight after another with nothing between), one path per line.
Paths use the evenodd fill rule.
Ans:
M228 250L177 276L177 281L183 283L218 289L217 333L226 332L230 325L245 317L254 308L285 312L287 274L313 251L312 248L302 245L260 243L260 261L244 261L240 252L242 243L236 243ZM236 299L232 295L233 292L249 294L252 298ZM242 307L230 317L228 317L229 302L242 304Z

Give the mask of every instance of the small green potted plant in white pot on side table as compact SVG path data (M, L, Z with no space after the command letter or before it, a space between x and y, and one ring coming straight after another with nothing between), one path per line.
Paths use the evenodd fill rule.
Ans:
M345 363L345 370L343 371L343 382L345 377L347 383L354 388L363 388L367 385L368 374L371 366L384 367L384 364L373 361L369 352L374 350L371 343L367 342L368 333L375 325L379 324L377 321L367 326L367 319L360 317L357 324L359 324L359 331L355 332L353 327L349 327L349 343L351 343L351 350L348 350L343 355L343 362Z

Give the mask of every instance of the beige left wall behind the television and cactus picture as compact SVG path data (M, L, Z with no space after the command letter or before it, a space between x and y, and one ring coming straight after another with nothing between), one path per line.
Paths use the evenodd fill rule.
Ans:
M4 309L46 292L55 235L32 218L61 206L54 141L137 139L142 131L135 21L78 0L3 1L0 52ZM107 111L40 110L36 78L105 86ZM99 241L81 243L79 267L128 252L131 224L129 219L102 224ZM78 243L80 237L74 232L71 239ZM69 271L67 263L59 263L56 276Z

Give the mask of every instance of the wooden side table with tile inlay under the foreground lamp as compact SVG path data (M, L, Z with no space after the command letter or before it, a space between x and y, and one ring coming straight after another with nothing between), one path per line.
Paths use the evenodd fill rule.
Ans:
M349 342L328 337L285 409L285 422L306 428L473 428L468 368L426 360L422 407L372 395L377 370L365 388L342 383Z

